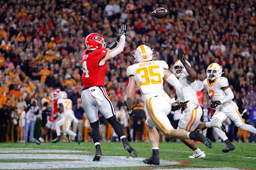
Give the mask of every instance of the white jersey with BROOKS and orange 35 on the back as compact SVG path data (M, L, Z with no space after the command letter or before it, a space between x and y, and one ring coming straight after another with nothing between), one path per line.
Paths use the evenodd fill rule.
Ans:
M127 68L127 76L134 76L143 101L164 92L164 69L169 69L168 64L159 60L137 63Z

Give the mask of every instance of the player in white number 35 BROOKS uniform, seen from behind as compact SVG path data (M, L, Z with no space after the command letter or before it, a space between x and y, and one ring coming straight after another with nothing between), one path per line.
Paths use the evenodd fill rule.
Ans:
M138 63L130 65L127 68L127 76L130 76L127 87L127 105L129 107L129 116L133 116L132 102L137 84L149 114L149 117L146 120L146 127L152 145L151 157L144 159L143 162L146 164L159 165L159 136L156 127L169 139L198 140L211 148L212 142L204 137L201 130L196 130L195 133L190 133L172 127L167 115L171 112L171 103L175 102L175 100L171 99L168 94L164 92L163 79L177 90L177 95L180 98L179 107L185 109L188 101L185 101L183 88L180 85L180 82L168 70L168 64L165 61L153 61L153 52L146 45L137 47L134 57L137 59Z

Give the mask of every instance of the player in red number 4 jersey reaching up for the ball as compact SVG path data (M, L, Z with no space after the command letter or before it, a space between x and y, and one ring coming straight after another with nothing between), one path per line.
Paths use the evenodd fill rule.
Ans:
M124 50L125 35L128 30L126 25L121 26L117 41L113 41L105 48L104 39L97 33L91 33L85 38L85 50L82 53L83 64L83 91L81 98L84 105L84 112L91 124L91 135L96 148L93 161L99 161L101 157L100 132L98 109L114 128L116 134L122 140L124 149L132 157L137 157L138 153L127 142L121 124L116 120L116 112L108 94L104 88L104 79L107 70L106 61L115 57ZM118 42L119 41L119 42Z

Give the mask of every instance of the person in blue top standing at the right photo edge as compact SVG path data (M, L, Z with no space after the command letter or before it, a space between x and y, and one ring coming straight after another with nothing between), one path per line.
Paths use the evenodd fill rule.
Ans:
M248 107L249 124L256 128L256 98L252 98L252 103ZM255 142L255 135L251 133L251 142Z

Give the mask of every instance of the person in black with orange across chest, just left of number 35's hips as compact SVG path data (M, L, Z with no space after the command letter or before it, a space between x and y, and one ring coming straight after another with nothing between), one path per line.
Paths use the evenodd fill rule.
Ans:
M144 107L140 105L140 99L135 100L135 105L133 105L133 141L137 141L137 131L140 131L140 138L139 141L142 141L143 129L144 129L144 122L143 118L146 118L146 114L144 111Z

